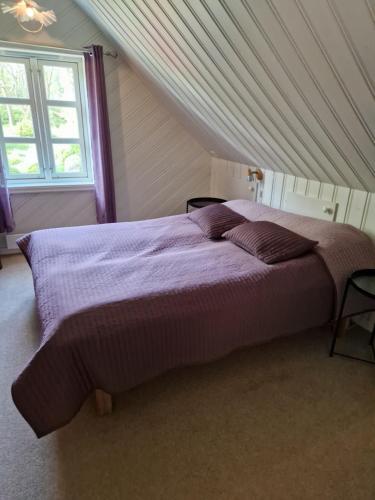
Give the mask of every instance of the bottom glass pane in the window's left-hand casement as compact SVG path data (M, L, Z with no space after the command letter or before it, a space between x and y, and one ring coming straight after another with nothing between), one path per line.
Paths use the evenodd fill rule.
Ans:
M40 173L35 144L5 144L11 175L37 175Z

